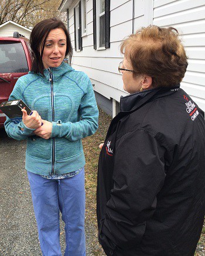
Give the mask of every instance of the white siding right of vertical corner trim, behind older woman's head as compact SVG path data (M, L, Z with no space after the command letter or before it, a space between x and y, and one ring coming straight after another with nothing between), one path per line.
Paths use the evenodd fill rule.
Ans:
M188 60L181 87L205 110L205 2L155 0L153 24L173 26L181 36Z

